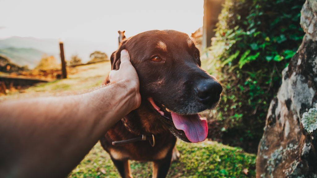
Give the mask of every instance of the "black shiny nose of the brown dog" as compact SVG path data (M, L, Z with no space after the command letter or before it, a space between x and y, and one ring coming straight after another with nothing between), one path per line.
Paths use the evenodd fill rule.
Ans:
M194 89L197 97L204 104L213 104L220 99L222 86L215 80L204 80Z

